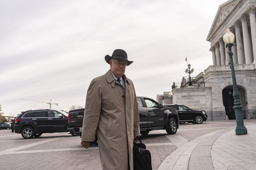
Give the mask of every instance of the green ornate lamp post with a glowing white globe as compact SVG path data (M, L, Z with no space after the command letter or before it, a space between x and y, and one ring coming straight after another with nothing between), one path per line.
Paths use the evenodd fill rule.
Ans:
M237 127L235 128L235 134L247 134L247 129L244 126L244 120L242 116L242 106L239 99L239 92L237 89L237 80L235 78L235 69L233 63L233 52L231 51L232 46L234 46L233 42L235 40L235 36L230 29L227 29L224 36L223 41L226 44L226 48L228 48L228 55L230 58L230 67L231 67L231 74L232 74L232 81L233 81L233 97L234 97L234 107L235 110L235 119L237 121Z

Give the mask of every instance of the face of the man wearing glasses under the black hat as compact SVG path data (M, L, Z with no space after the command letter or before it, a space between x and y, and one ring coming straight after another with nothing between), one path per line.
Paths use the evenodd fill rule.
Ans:
M114 59L114 62L110 60L110 70L116 76L116 78L121 78L125 74L127 62Z

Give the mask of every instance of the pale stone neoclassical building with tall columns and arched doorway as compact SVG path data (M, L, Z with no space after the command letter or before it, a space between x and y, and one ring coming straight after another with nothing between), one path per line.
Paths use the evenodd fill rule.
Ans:
M208 121L235 119L232 74L226 29L235 35L232 47L235 76L244 119L256 114L256 0L228 0L220 5L206 41L213 64L192 78L172 86L172 102L206 110Z

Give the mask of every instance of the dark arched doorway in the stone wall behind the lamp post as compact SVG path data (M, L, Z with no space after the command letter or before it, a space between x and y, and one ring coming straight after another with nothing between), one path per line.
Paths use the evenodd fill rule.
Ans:
M246 118L246 113L245 113L245 106L246 106L246 97L245 97L245 92L241 87L237 87L238 92L240 94L240 102L242 107L242 113L243 117ZM228 86L225 87L222 90L222 99L223 99L223 105L225 107L226 115L228 116L228 119L235 119L235 110L233 109L234 107L234 97L233 97L233 86Z

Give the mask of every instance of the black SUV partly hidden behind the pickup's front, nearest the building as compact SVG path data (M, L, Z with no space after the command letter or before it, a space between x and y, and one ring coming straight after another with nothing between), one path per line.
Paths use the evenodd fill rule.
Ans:
M178 104L170 104L164 105L166 107L173 107L177 110L178 115L180 117L180 123L183 124L185 122L189 123L197 123L200 124L203 121L207 120L207 114L204 110L193 110L185 105L178 105Z

